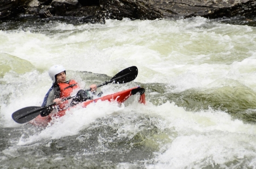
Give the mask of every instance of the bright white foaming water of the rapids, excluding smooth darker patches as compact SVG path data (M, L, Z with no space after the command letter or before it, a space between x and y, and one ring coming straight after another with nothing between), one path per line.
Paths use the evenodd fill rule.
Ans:
M9 54L30 62L26 73L16 71L20 62L2 61L11 67L0 81L10 84L1 89L1 125L17 128L12 112L31 105L40 106L51 86L47 70L55 64L68 71L88 71L113 76L120 70L137 66L135 82L165 83L174 86L169 92L186 89L208 89L223 86L245 86L256 90L256 29L250 26L210 22L205 18L185 20L106 20L105 25L79 26L56 24L50 33L30 31L0 31L0 57ZM10 59L11 60L11 59ZM17 65L12 66L18 62ZM1 61L0 61L1 65ZM1 66L2 66L1 65ZM22 65L22 64L21 64ZM68 73L87 88L75 73ZM106 79L107 80L107 79ZM133 87L125 84L118 89ZM101 88L105 93L117 91L112 86ZM256 125L232 119L226 112L187 111L175 103L140 105L132 102L127 107L100 102L86 109L75 109L56 119L39 133L21 137L18 146L38 140L58 139L76 135L97 118L114 114L148 115L159 119L159 129L169 129L169 141L160 146L157 156L146 161L146 168L220 168L256 166ZM119 123L118 119L115 123ZM139 130L127 123L118 129L120 135L132 137ZM59 132L61 131L61 132ZM100 138L99 138L100 141ZM4 154L13 150L6 149ZM7 155L6 155L7 156ZM131 164L118 165L132 167Z

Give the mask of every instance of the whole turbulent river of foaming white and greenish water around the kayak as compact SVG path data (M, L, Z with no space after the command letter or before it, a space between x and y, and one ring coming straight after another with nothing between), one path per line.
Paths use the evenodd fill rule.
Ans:
M255 168L255 25L201 17L1 22L0 167ZM84 89L137 66L134 81L98 91L141 86L146 104L136 95L71 109L46 128L14 122L16 110L41 106L56 64Z

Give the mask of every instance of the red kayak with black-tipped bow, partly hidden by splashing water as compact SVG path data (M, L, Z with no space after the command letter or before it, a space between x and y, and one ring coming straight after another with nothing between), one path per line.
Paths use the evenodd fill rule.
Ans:
M130 88L130 89L127 89L127 90L119 91L119 92L114 93L114 94L102 96L102 97L96 98L94 100L87 100L85 102L80 103L79 105L82 105L82 107L85 108L88 104L90 104L92 102L97 102L98 100L101 100L101 101L106 101L107 100L109 102L116 101L118 103L123 103L127 100L127 98L129 98L131 95L134 95L136 93L140 94L139 103L145 104L146 100L145 100L144 92L145 92L144 88L133 87L133 88ZM71 108L73 108L73 107L70 107L66 110L69 110ZM64 116L66 110L61 110L61 111L56 112L53 115L50 114L49 116L45 116L45 117L42 117L41 115L38 115L35 119L30 121L29 123L31 123L33 125L37 125L37 126L46 126L52 120L52 117L56 118L56 117Z

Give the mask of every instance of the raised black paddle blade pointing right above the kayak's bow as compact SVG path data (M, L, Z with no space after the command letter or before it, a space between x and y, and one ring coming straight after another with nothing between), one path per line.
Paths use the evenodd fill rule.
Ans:
M127 83L133 81L137 75L138 68L136 66L131 66L114 75L110 81L114 81L114 83Z

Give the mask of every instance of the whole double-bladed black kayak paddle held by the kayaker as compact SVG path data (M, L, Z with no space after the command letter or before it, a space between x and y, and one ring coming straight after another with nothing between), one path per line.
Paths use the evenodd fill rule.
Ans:
M114 75L113 78L110 79L109 81L106 81L98 85L97 88L112 82L116 84L127 83L130 81L133 81L137 77L137 75L138 75L138 68L136 66L131 66ZM90 90L91 89L87 89L87 91L90 91ZM75 96L76 95L66 97L62 101L69 100L70 98ZM12 119L14 119L14 121L19 124L29 122L32 119L36 118L38 115L40 115L41 112L45 111L47 108L55 104L56 103L52 103L44 107L31 106L31 107L25 107L25 108L19 109L12 114Z

